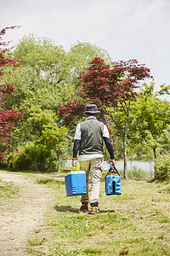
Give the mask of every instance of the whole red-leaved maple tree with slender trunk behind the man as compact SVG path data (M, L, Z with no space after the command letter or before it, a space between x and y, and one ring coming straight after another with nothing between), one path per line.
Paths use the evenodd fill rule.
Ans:
M124 177L127 178L127 123L129 119L130 104L138 96L137 89L144 79L150 79L150 69L137 60L114 61L110 65L105 64L101 58L94 58L89 67L80 73L80 90L77 97L83 102L97 104L101 113L110 118L120 132L123 143ZM68 107L68 108L67 108ZM71 106L65 103L66 109ZM62 107L59 109L61 113ZM121 109L124 118L124 126L116 119L117 109ZM69 110L70 113L74 111ZM81 114L81 113L79 113ZM67 119L68 123L68 119Z

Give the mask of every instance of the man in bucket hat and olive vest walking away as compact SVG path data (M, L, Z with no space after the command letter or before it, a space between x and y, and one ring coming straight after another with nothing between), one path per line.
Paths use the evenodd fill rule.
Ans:
M86 172L87 194L82 195L82 212L88 212L88 203L91 205L90 214L99 213L99 186L102 176L102 164L104 160L103 140L110 154L109 162L115 166L113 148L109 131L103 123L96 119L100 113L95 104L89 104L85 111L88 116L85 121L77 125L74 137L72 166L77 164L77 152L79 151L79 163L82 171ZM88 197L89 173L91 172L91 193Z

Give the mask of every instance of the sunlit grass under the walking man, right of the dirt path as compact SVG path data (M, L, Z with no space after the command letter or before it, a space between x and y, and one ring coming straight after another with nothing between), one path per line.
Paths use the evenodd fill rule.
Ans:
M170 255L169 184L122 180L122 195L105 195L101 183L100 213L79 212L80 196L66 196L56 175L41 177L54 189L56 203L48 217L55 255Z

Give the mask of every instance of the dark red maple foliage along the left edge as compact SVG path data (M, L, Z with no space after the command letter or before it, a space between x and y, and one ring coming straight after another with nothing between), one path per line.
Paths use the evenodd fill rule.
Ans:
M18 60L14 59L8 47L8 43L3 42L3 35L8 29L16 26L9 26L0 31L0 160L6 160L7 151L15 151L11 146L12 140L16 137L12 135L12 128L17 123L18 118L23 114L14 109L9 110L3 102L3 98L14 92L12 84L8 84L4 78L5 74L10 74L8 67L20 67Z

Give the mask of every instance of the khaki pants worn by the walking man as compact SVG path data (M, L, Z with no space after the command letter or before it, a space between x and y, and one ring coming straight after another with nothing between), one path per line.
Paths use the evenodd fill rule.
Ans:
M87 183L87 194L82 195L82 203L90 204L98 203L99 199L99 186L102 176L103 158L96 158L93 160L80 161L81 170L86 172L86 183ZM91 172L91 193L90 198L88 197L88 183L89 183L89 173Z

